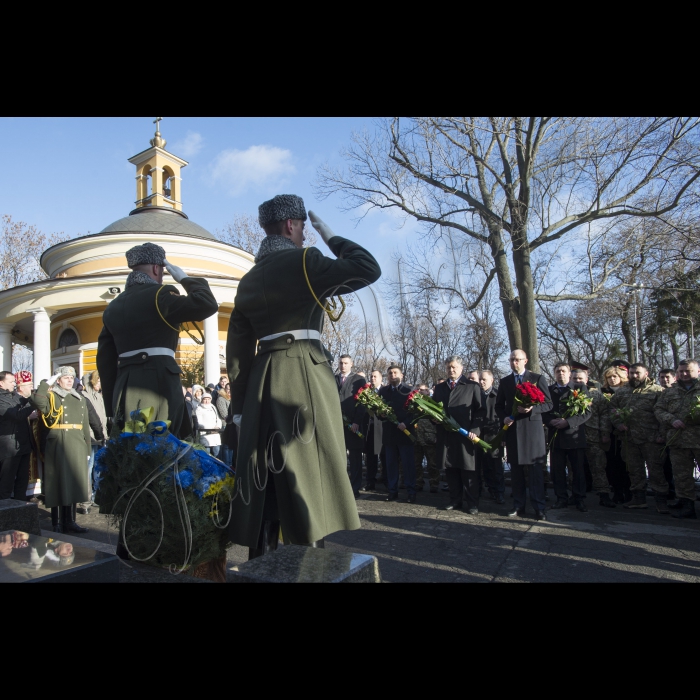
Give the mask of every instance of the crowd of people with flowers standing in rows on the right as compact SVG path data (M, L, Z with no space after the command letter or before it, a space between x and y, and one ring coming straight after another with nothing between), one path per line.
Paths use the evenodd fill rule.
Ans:
M512 374L501 378L498 387L492 371L465 372L456 356L446 359L445 377L432 387L410 386L397 364L388 368L386 378L373 370L372 390L393 409L399 421L395 425L370 416L355 402L367 379L353 372L348 355L342 356L336 384L355 498L376 491L383 482L387 501L398 499L399 490L405 489L407 502L414 503L427 481L431 493L449 491L447 510L464 508L475 515L485 493L496 504L505 504L508 465L510 517L525 515L528 488L538 520L546 519L549 489L552 509L575 506L587 512L586 494L591 491L601 506L644 509L651 493L658 513L696 517L700 382L695 360L663 368L657 381L644 364L616 360L603 372L602 382L582 363L560 362L551 384L527 369L523 350L514 350L509 362ZM538 387L542 403L516 405L516 388L524 382ZM414 388L442 402L469 437L429 418L416 421L405 407ZM569 415L574 392L587 400L585 409ZM503 444L487 451L474 445L477 437L490 445L506 426Z

